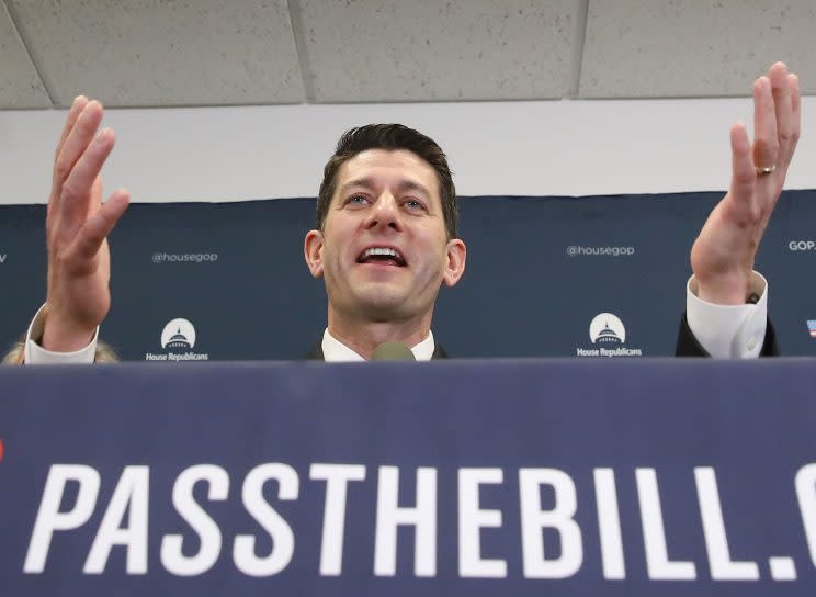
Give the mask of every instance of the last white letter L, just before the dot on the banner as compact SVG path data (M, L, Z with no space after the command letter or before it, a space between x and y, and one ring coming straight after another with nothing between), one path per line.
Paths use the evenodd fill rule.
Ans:
M730 559L714 469L711 466L694 469L694 480L700 500L700 515L703 518L711 577L715 581L758 581L759 567L756 562L734 562Z

